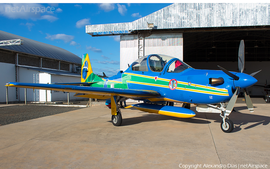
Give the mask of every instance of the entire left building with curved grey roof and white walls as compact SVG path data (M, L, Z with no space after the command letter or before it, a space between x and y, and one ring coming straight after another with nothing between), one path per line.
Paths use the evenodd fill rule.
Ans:
M80 82L82 60L60 47L0 31L0 41L23 40L21 45L0 46L0 102L6 102L7 82ZM3 43L2 43L3 44ZM8 101L24 101L24 88L8 88ZM27 89L27 101L45 101L45 90ZM76 97L74 97L76 98ZM73 95L70 94L70 99ZM47 101L67 100L67 94L48 91Z

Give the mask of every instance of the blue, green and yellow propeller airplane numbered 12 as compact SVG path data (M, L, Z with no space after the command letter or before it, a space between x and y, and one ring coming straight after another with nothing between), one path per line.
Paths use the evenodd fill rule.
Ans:
M195 112L190 110L190 104L194 104L197 112L219 113L222 117L220 128L229 133L234 125L228 116L240 89L244 89L247 108L251 113L254 112L246 88L257 82L253 76L259 71L250 75L243 73L243 40L238 52L239 72L230 72L218 67L220 70L199 70L180 59L151 54L134 61L126 71L101 78L93 73L89 56L84 54L81 83L9 82L5 86L75 92L74 96L77 97L107 100L106 105L111 109L112 123L115 126L122 124L122 113L118 103L128 98L143 101L128 107L179 118L194 117ZM174 102L183 103L183 106L175 107Z

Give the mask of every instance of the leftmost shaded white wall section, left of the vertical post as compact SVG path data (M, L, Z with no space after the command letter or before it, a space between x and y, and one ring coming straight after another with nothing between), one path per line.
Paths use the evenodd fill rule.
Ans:
M0 102L6 102L6 86L8 82L15 82L15 64L0 62ZM8 101L16 101L16 88L8 88Z

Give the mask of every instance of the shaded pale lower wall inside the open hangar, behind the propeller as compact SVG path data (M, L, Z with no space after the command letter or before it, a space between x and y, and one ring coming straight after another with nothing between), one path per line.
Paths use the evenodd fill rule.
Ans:
M221 66L222 68L228 71L239 72L238 69L238 62L186 62L188 65L195 69L207 69L207 70L220 70L217 65ZM245 62L244 63L245 70L243 73L251 74L256 71L262 70L253 77L255 77L258 82L256 85L264 86L265 80L267 80L267 84L270 84L270 73L269 73L269 66L270 62ZM259 89L258 86L251 86L247 89L250 91L250 95L263 95L262 92L264 89ZM240 91L242 92L242 91Z

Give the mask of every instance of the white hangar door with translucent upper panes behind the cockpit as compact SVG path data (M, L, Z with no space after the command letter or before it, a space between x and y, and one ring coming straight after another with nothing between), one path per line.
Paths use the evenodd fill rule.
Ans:
M128 64L149 54L163 54L183 60L183 34L162 33L146 38L138 35L121 35L120 70L125 71Z

